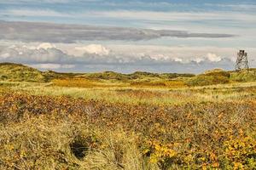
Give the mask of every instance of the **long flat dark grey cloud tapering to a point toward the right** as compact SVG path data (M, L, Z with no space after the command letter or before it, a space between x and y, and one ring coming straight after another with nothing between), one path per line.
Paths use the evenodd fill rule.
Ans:
M0 21L0 40L22 42L140 41L160 37L235 37L231 34Z

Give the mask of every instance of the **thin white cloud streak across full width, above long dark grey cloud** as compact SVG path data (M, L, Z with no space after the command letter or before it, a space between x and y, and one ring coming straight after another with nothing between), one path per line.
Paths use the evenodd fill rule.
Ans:
M247 5L248 6L248 5ZM251 6L255 8L255 5ZM246 12L246 11L245 11ZM20 9L11 8L2 10L0 14L13 16L52 16L69 18L118 18L122 20L165 20L165 21L195 21L195 20L237 20L255 22L255 14L235 11L212 11L212 12L176 12L176 11L147 11L147 10L112 10L112 11L85 11L85 12L59 12L50 9ZM150 16L150 17L148 17Z

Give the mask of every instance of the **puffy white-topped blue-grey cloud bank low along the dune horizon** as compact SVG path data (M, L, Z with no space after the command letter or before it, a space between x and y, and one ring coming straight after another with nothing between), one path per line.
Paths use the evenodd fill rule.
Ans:
M150 56L150 54L116 54L99 44L90 44L84 54L76 56L55 48L50 43L32 46L9 46L0 48L0 62L32 65L41 70L54 71L154 71L198 73L212 68L232 69L230 59L217 54L206 54L191 59ZM90 50L89 50L90 49ZM89 51L88 51L89 50ZM108 51L108 53L105 53ZM93 52L97 52L93 53ZM105 54L104 54L105 53Z

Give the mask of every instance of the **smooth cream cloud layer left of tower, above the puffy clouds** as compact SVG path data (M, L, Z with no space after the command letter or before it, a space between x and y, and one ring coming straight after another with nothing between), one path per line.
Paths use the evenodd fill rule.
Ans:
M189 62L195 58L208 59L210 52L215 52L217 56L235 59L238 48L218 48L212 46L188 47L188 46L160 46L160 45L108 45L115 54L127 54L134 57L149 55L154 59L173 59L181 62ZM246 48L249 54L256 53L256 48ZM211 54L210 54L211 55ZM210 56L211 57L211 56ZM215 57L213 55L213 57ZM212 58L213 58L212 57ZM211 58L211 59L212 59ZM199 59L196 59L199 61ZM216 59L215 59L216 60Z

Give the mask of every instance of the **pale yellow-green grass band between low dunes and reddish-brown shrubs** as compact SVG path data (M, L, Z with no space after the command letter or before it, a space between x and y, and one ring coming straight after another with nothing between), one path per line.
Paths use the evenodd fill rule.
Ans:
M106 82L104 82L106 83ZM0 82L15 92L28 94L69 96L86 100L104 100L109 103L182 105L186 103L223 102L255 99L255 82L232 83L194 88L151 87L56 87L52 83ZM109 85L109 84L108 84Z

